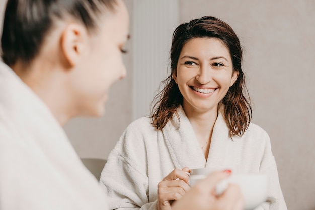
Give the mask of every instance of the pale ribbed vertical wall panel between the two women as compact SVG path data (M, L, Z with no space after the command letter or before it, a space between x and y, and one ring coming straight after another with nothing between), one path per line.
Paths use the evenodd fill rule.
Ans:
M167 77L178 0L136 0L133 13L132 119L137 119L150 114L156 90Z

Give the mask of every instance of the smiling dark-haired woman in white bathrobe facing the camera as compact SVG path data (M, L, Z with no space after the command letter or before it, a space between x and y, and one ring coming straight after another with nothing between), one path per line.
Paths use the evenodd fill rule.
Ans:
M101 175L112 209L171 209L189 190L192 168L262 173L261 209L287 209L268 134L251 123L242 48L225 22L206 16L179 25L171 73L150 117L125 130Z

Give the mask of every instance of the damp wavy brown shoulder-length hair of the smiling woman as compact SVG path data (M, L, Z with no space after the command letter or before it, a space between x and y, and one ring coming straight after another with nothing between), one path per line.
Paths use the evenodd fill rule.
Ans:
M252 119L250 96L245 85L245 75L242 71L242 47L238 36L224 21L204 16L199 19L179 25L174 33L171 47L171 73L162 81L164 88L155 96L152 107L152 125L157 130L167 124L183 102L183 96L172 78L177 69L177 63L183 46L194 38L218 38L229 49L233 71L239 72L235 83L229 88L220 102L223 104L223 116L229 128L229 136L242 136Z

